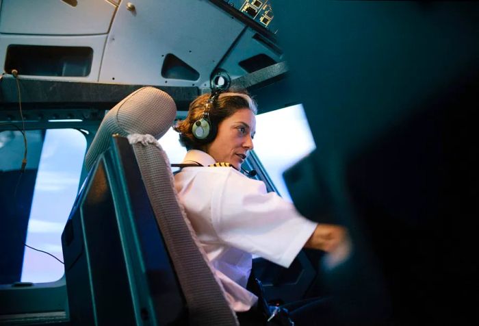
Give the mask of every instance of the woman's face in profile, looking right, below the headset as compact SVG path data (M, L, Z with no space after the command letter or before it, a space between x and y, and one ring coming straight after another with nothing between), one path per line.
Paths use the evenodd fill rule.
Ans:
M255 114L248 108L237 110L220 122L218 134L213 142L207 145L206 152L216 162L228 162L239 170L248 151L253 149L255 132Z

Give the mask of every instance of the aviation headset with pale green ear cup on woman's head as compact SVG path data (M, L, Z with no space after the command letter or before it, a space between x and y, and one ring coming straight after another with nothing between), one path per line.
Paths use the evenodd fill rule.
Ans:
M192 134L194 138L200 140L201 142L211 142L216 137L216 132L218 127L216 123L211 123L209 118L209 112L214 110L216 101L220 97L221 92L227 90L231 84L231 78L229 74L223 69L216 69L211 73L209 83L211 86L211 95L205 103L205 108L203 109L203 116L194 122L192 127Z

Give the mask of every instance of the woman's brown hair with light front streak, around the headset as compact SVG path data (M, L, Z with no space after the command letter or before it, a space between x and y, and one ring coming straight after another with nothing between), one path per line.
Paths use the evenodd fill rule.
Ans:
M179 132L179 142L183 147L186 147L187 150L203 150L205 149L205 145L207 145L204 141L198 140L193 136L192 129L193 124L203 117L206 101L209 97L209 93L196 97L196 99L190 103L190 108L185 120L179 121L173 128ZM248 92L245 90L228 90L222 92L215 101L214 107L209 110L209 120L212 124L218 126L225 118L232 116L237 110L244 108L248 108L254 114L257 114L256 103L248 95Z

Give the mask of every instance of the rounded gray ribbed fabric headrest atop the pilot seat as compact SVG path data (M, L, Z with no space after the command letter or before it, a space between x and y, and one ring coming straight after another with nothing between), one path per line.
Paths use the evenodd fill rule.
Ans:
M177 106L170 95L154 87L144 87L128 95L105 115L85 157L90 171L110 144L112 134L150 134L160 138L172 126Z

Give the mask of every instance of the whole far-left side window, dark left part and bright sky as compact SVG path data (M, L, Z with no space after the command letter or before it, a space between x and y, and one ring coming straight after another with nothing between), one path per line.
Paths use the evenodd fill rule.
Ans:
M64 275L61 234L77 195L86 138L75 129L0 132L0 284ZM35 248L47 253L36 251Z

